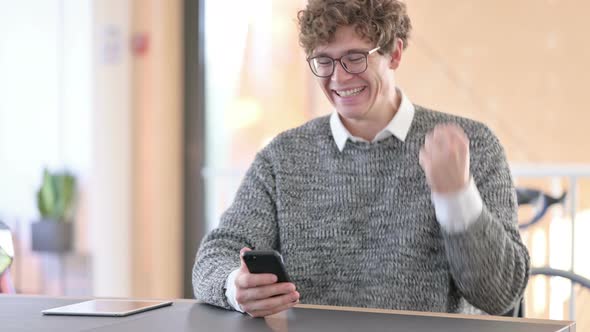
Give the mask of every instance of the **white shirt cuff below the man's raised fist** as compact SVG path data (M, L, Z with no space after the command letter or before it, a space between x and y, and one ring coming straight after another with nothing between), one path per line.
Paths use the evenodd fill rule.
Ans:
M467 230L481 215L483 201L473 178L466 188L450 194L432 192L432 203L436 219L449 233L461 233Z

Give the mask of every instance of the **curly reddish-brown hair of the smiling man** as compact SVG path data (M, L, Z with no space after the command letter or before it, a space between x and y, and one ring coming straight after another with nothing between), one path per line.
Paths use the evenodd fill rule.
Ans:
M379 53L391 52L396 38L404 49L412 24L405 3L400 0L309 0L297 13L299 44L309 56L333 40L340 26L354 26L359 37L380 46Z

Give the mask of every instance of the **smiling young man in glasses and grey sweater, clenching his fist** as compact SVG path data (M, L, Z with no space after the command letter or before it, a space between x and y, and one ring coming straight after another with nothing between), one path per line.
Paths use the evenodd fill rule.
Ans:
M483 124L413 105L395 83L411 30L399 0L310 0L310 69L335 108L260 151L203 240L195 296L252 316L297 302L501 314L529 256L504 151ZM250 274L282 253L292 283Z

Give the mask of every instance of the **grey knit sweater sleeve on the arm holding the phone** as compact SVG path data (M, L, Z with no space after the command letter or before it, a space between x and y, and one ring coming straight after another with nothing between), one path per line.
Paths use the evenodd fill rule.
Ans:
M246 172L230 208L221 216L219 227L201 242L192 273L195 297L231 309L225 282L240 267L240 249L276 249L277 234L274 174L261 152Z

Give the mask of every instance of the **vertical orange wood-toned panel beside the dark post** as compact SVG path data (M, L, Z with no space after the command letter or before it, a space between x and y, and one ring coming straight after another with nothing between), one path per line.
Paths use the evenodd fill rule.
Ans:
M134 0L133 270L136 297L182 296L182 1ZM190 277L190 276L189 276Z

